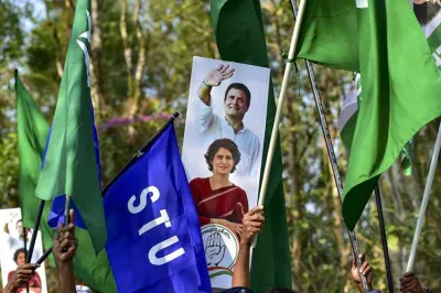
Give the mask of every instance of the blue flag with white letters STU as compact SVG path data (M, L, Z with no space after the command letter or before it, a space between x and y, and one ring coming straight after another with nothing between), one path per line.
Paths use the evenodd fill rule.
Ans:
M212 292L173 124L108 188L104 207L118 292Z

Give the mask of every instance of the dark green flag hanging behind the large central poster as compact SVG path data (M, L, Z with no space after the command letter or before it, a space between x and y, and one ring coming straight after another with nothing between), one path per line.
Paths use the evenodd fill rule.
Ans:
M269 67L263 23L258 0L212 0L212 23L224 61ZM272 85L268 95L263 160L276 115ZM263 164L265 165L265 162ZM263 172L262 172L263 173ZM280 143L277 143L265 203L265 230L254 250L251 287L291 287L286 203L283 197Z

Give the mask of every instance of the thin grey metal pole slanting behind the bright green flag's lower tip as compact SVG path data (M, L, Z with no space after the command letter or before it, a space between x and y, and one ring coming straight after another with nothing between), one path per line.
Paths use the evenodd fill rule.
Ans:
M300 4L302 4L302 2L300 2ZM292 12L294 14L294 18L297 19L295 24L299 22L300 17L302 17L300 14L300 9L299 9L299 13L297 11L297 3L295 0L291 0L291 9ZM303 8L304 9L304 8ZM299 14L299 15L298 15ZM338 191L338 195L340 198L342 198L343 196L343 181L340 176L338 173L338 165L337 165L337 160L335 156L335 152L334 152L334 146L332 144L332 140L331 140L331 134L330 134L330 130L327 128L327 122L326 122L326 117L324 115L324 110L323 110L323 102L320 98L320 93L316 86L316 82L315 82L315 75L314 75L314 69L312 67L312 64L310 61L305 59L305 64L306 64L306 69L308 69L308 75L310 77L310 83L311 83L311 88L314 95L314 100L315 100L315 107L319 113L319 120L320 120L320 126L322 128L322 133L324 137L324 141L326 144L326 150L327 150L327 155L331 162L331 167L332 167L332 173L334 175L334 181L335 181L335 185L337 187ZM362 260L359 259L359 248L358 248L358 241L357 238L355 236L355 232L352 230L347 230L349 240L351 240L351 247L352 247L352 251L355 258L355 263L357 264L357 269L359 271L359 269L362 268ZM363 292L369 292L369 287L367 285L367 281L366 281L366 276L363 274L359 274L359 279L362 281L362 287L363 287Z

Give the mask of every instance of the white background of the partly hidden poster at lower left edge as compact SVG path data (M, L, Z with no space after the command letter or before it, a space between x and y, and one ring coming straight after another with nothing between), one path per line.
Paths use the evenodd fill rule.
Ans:
M0 263L1 263L1 279L3 282L3 287L8 283L8 274L17 269L17 264L13 260L13 254L19 248L23 248L22 239L19 239L19 234L17 230L17 224L21 219L20 208L7 208L0 209ZM28 239L31 239L32 231L28 231ZM29 242L26 243L29 249ZM43 245L41 232L36 235L34 252L32 253L31 262L36 262L36 260L43 254ZM42 293L47 293L46 284L46 272L44 265L41 265L36 271L39 273L42 283ZM26 292L22 290L21 292ZM30 293L33 291L30 290Z

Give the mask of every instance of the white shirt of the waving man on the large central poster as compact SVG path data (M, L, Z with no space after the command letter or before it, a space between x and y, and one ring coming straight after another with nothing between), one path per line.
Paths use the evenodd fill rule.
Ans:
M237 176L256 176L257 158L259 154L259 139L249 129L245 128L235 133L225 118L213 112L213 107L205 105L200 98L196 99L196 111L194 117L196 132L205 150L217 139L230 139L240 151L240 162L235 174Z

